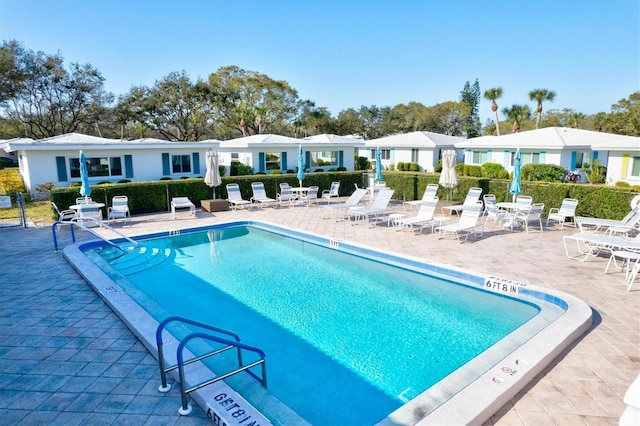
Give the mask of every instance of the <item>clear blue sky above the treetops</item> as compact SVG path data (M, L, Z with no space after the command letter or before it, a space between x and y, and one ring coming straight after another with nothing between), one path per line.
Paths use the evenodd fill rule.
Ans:
M545 110L608 113L640 90L637 0L0 0L0 39L90 63L116 95L236 65L334 116L457 101L476 78L500 109L546 88Z

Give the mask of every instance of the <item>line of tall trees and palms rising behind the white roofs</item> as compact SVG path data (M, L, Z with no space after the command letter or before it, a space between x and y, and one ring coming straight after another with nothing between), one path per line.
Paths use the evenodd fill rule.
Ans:
M327 108L301 99L286 81L256 71L224 66L207 79L192 81L185 71L172 72L151 86L133 86L116 96L90 64L65 65L59 54L26 49L18 41L0 47L0 138L40 139L79 132L107 138L155 137L176 141L232 139L261 133L292 137L331 133L374 139L397 133L429 131L476 137L532 128L581 127L640 136L640 92L612 106L611 113L585 116L572 109L549 110L549 89L529 93L528 105L504 107L498 117L500 87L484 93L476 79L467 81L457 100L425 106L360 106L333 117ZM491 101L494 121L480 123L481 96ZM535 126L535 127L534 127Z

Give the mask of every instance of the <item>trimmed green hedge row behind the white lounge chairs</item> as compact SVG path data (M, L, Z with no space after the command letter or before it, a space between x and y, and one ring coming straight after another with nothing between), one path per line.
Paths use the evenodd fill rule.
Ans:
M306 173L304 186L317 185L319 194L331 187L331 182L340 182L340 196L348 196L355 189L355 185L364 187L366 176L357 172L322 172ZM422 198L425 188L430 183L438 183L439 174L421 172L383 172L383 178L388 187L394 189L393 198L396 200L418 200ZM243 198L250 199L252 195L251 182L264 183L267 195L275 198L279 185L287 182L291 186L299 185L295 174L225 176L222 185L215 188L216 198L227 198L226 184L238 183ZM462 203L471 187L482 188L483 194L495 194L500 201L510 201L508 179L485 179L468 176L458 176L458 185L452 190L440 187L438 197L441 200L451 200ZM618 187L606 185L572 184L572 183L540 183L523 181L522 195L530 195L534 202L544 203L545 215L552 207L560 207L564 198L576 198L578 203L577 215L610 219L622 219L629 212L631 199L638 194L633 187ZM120 184L95 185L91 187L91 198L94 201L111 205L114 195L129 197L131 214L155 213L170 210L173 197L189 197L200 206L200 200L212 198L213 189L208 187L203 179L179 179L153 182L132 182ZM51 192L51 200L58 207L66 208L75 204L80 197L79 188L60 188ZM106 211L106 208L105 208ZM52 210L52 217L56 215Z

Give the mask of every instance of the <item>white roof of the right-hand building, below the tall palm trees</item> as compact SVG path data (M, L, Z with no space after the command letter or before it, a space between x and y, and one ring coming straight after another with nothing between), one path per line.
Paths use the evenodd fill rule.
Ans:
M545 127L538 130L511 133L503 136L480 136L456 144L457 148L504 149L591 149L592 145L616 140L620 135L573 129L570 127Z

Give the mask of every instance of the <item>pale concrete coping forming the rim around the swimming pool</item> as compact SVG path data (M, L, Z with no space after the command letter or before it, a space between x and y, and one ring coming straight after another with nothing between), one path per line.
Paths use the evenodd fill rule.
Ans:
M372 249L357 243L347 241L339 241L320 236L308 232L298 231L282 225L275 225L264 221L228 221L209 225L205 227L194 227L181 230L181 233L200 232L212 228L224 228L229 226L250 225L266 230L285 230L287 233L295 235L297 238L326 246L329 248L341 249L342 251L374 258L380 258L387 262L394 263L402 261L406 267L411 265L429 265L442 268L446 271L455 271L469 282L474 282L478 287L484 286L487 282L486 276L471 273L462 268L456 268L448 265L441 265L429 262L424 259L414 258L412 256L401 255L398 253L388 252L380 249ZM146 234L137 237L154 238L159 236L167 236L169 232L158 232ZM114 240L118 241L118 240ZM64 256L71 265L85 278L85 280L94 288L94 291L116 312L121 320L129 329L143 342L147 350L157 359L157 349L155 346L155 328L157 321L150 317L141 307L125 294L124 291L114 288L114 282L104 272L102 272L93 262L86 258L80 251L80 247L97 244L99 241L78 243L68 246L64 250ZM394 261L395 259L395 261ZM424 270L424 268L421 268ZM432 271L429 269L429 271ZM450 274L447 274L451 277ZM495 278L495 277L494 277ZM94 282L97 279L96 282ZM464 389L450 397L446 402L437 408L428 408L433 406L428 397L422 395L408 401L398 410L391 413L387 418L378 424L380 425L397 425L397 424L444 424L444 423L482 423L486 421L493 413L502 407L508 400L516 395L524 388L537 374L539 374L556 356L558 356L567 346L569 346L580 335L586 332L592 324L592 310L581 300L559 291L550 290L543 287L526 285L523 291L533 295L541 300L551 303L563 303L566 309L565 313L547 326L540 333L532 337L526 344L516 351L505 357L499 364L490 368L487 372L467 385ZM127 300L128 299L128 300ZM120 308L119 308L120 307ZM121 308L125 307L126 317ZM141 312L142 311L142 312ZM133 315L133 316L131 316ZM138 326L135 326L138 324ZM176 341L171 337L168 340ZM210 372L197 371L194 377L187 376L187 382L198 383L202 375L211 375ZM220 383L220 382L219 382ZM244 400L239 394L228 387L210 387L200 389L194 392L193 399L203 408L207 410L206 401L212 401L215 392L229 392L235 394L239 400ZM215 391L211 392L216 386ZM226 384L221 383L221 386ZM270 417L276 419L278 423L283 424L306 424L304 419L300 418L292 412L288 407L277 401L275 397L269 396L268 392L261 391L261 387L251 386L246 389L250 392L262 393L261 399L269 405ZM245 401L246 402L246 401ZM248 405L248 403L247 403ZM275 407L273 410L271 410ZM428 415L424 415L428 412ZM256 416L258 416L256 412ZM268 420L264 417L263 423Z

